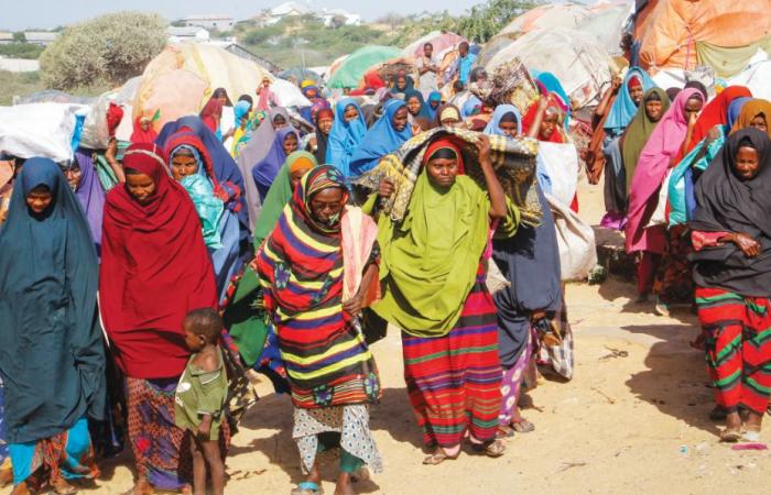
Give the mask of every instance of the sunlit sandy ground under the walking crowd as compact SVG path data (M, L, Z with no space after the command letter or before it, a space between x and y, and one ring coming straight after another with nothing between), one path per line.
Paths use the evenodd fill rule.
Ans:
M597 222L601 189L582 186L582 216ZM384 472L357 485L367 494L768 493L771 453L732 451L707 419L710 391L703 354L688 346L696 332L687 311L673 318L637 306L633 286L568 285L576 340L575 378L544 382L523 411L535 431L507 442L493 460L466 449L453 462L424 466L417 427L402 378L399 334L373 345L384 388L371 426ZM226 493L287 494L302 480L291 438L292 406L262 385L262 399L234 439ZM326 493L336 460L326 458ZM116 494L132 483L130 458L105 466L88 494ZM1 493L8 493L8 488Z

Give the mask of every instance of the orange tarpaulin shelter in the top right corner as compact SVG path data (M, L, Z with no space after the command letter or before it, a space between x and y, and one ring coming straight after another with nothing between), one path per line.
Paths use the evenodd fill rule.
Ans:
M769 47L771 0L640 0L634 40L645 68L709 65L721 77L741 72Z

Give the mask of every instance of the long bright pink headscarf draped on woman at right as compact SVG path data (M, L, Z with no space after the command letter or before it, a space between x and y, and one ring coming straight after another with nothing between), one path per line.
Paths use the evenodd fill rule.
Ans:
M701 91L694 88L685 88L680 91L640 153L629 190L629 212L626 228L628 253L636 251L663 252L663 239L648 239L647 235L645 224L655 209L655 201L650 199L658 195L659 188L666 177L666 172L670 169L670 163L677 156L683 146L688 130L685 102L693 97L702 98Z

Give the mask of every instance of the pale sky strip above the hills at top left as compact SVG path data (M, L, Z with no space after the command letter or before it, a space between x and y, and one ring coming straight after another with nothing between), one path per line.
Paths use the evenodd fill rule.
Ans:
M463 13L482 0L311 0L303 1L313 10L345 9L361 14L367 20L397 12L401 14L448 10ZM102 13L121 10L156 12L172 21L189 14L221 13L236 20L251 18L282 0L0 0L0 30L53 29Z

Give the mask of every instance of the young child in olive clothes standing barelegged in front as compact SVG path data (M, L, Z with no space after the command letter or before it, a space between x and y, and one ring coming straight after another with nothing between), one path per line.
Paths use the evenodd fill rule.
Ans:
M217 345L222 319L210 308L195 309L182 323L185 343L193 352L180 378L175 398L176 426L189 430L193 439L193 490L206 493L206 464L211 475L211 493L222 495L225 463L219 452L219 429L228 393L228 378Z

